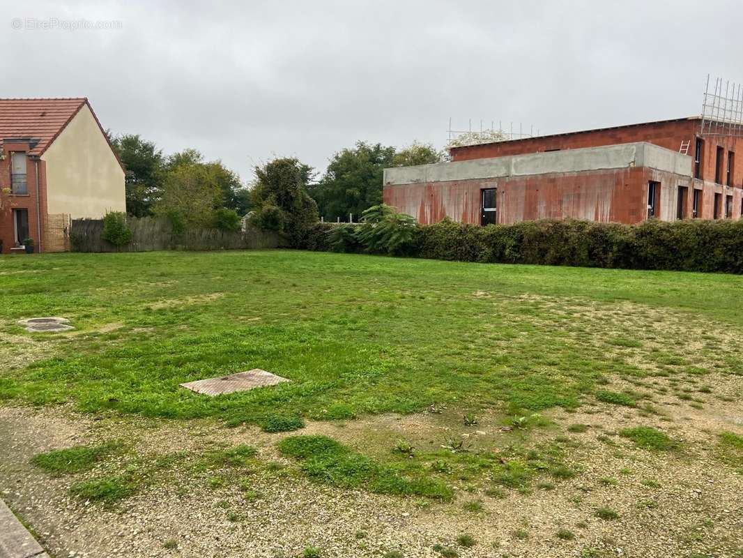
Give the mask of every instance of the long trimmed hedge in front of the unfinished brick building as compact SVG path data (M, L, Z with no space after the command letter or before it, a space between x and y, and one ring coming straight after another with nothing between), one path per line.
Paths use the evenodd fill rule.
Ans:
M303 246L331 251L318 223ZM743 219L646 221L639 225L544 219L514 225L444 220L418 228L406 255L436 260L743 273Z

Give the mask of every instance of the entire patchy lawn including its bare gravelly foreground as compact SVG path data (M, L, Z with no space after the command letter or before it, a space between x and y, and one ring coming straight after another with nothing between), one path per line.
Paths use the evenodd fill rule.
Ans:
M0 419L38 421L0 479L53 479L49 505L137 516L175 495L258 544L250 510L267 493L291 507L319 490L317 513L348 530L274 533L251 554L267 557L742 551L739 277L225 251L1 257L0 280ZM16 323L47 315L77 329ZM178 387L250 368L291 383ZM59 421L70 437L43 440ZM699 482L704 509L681 513L700 508ZM404 507L415 525L357 537L382 536L382 519L348 505ZM158 531L143 555L208 550L193 537Z

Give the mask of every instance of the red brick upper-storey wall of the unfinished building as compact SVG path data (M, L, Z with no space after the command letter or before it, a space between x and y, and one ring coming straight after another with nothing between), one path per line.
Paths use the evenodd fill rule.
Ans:
M629 144L635 141L647 141L651 144L678 151L681 141L690 141L689 155L694 156L695 138L699 131L699 120L679 120L634 126L621 126L588 132L574 132L539 138L528 138L519 141L504 141L498 144L483 144L467 147L455 147L451 150L452 161L468 159L502 157L505 155L525 155L548 150L580 149L582 147L599 147L602 145ZM704 136L702 159L702 179L715 180L715 159L718 145L724 147L724 164L727 164L728 151L736 152L736 138L724 136ZM743 145L743 143L742 143ZM724 183L724 172L722 175ZM736 156L733 185L743 185L743 153Z

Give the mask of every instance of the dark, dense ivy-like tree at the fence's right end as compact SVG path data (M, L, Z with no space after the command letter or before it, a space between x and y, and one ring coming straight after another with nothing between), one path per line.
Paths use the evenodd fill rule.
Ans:
M293 157L256 167L251 190L256 225L285 233L292 246L302 246L307 231L319 220L317 203L307 193L311 176L311 167Z

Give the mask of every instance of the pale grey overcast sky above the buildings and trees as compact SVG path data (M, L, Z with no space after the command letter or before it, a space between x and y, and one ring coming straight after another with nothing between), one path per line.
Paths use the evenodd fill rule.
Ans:
M245 180L275 155L324 170L357 140L444 147L450 117L545 134L695 115L708 73L743 81L739 0L0 0L0 14L1 97L88 97L104 127ZM71 29L81 19L114 23Z

